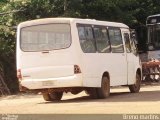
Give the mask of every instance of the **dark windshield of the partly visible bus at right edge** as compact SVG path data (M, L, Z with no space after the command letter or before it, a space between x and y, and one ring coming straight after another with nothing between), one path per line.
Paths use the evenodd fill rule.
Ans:
M152 47L149 50L160 50L160 25L148 26L148 42Z

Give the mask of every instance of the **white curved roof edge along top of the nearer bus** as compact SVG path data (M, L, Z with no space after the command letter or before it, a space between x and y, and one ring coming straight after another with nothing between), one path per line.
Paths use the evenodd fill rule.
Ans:
M122 27L129 28L127 25L118 22L108 22L108 21L99 21L95 19L80 19L80 18L43 18L36 19L31 21L22 22L19 24L19 27L27 27L32 25L39 24L50 24L50 23L80 23L80 24L96 24L96 25L106 25L113 27Z

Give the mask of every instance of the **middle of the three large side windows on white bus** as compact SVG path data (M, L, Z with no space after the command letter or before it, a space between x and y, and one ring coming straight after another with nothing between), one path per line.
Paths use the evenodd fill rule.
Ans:
M94 36L96 39L97 51L99 53L109 53L111 50L107 29L104 27L94 27Z

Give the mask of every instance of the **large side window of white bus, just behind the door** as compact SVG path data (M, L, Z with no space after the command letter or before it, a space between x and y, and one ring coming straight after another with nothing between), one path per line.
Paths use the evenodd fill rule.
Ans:
M109 39L113 53L124 53L122 35L119 28L109 28Z

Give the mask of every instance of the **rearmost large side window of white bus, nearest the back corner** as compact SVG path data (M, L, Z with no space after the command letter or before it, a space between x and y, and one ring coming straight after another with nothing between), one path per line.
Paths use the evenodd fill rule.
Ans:
M95 41L93 38L92 27L90 26L78 26L78 35L80 45L84 53L95 53Z

